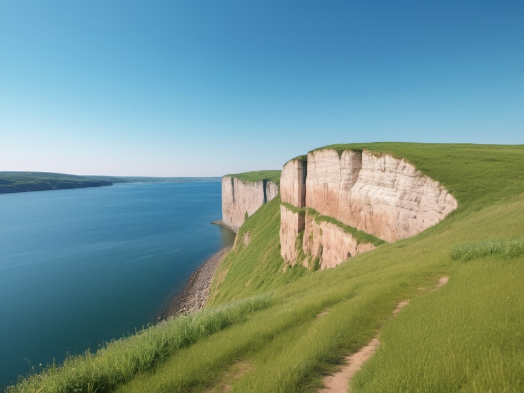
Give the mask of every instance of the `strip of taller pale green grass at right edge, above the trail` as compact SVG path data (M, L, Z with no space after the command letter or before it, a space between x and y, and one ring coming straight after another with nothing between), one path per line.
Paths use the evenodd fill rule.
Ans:
M490 239L483 242L457 244L450 253L451 259L472 260L489 255L506 259L524 256L524 237L516 239Z

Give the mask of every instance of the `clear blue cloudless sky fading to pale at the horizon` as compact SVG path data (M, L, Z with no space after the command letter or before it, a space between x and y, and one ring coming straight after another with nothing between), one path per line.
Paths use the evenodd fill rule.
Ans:
M524 144L524 2L0 0L0 171L221 176Z

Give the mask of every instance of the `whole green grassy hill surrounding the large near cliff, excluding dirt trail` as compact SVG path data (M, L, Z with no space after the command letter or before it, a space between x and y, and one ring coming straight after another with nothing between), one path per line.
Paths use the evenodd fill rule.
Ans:
M417 236L314 272L280 257L277 196L240 228L250 242L216 272L205 310L9 391L314 392L377 334L352 392L524 391L524 146L334 148L404 157L459 208ZM443 276L449 282L433 291Z

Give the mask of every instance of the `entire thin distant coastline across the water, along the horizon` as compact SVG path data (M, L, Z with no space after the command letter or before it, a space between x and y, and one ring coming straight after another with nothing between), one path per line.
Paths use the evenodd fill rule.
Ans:
M0 194L103 187L114 183L219 181L220 177L77 176L51 172L0 172Z

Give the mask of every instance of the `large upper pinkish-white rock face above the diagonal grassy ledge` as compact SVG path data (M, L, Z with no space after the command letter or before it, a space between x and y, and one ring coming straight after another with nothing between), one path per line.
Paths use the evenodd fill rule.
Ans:
M439 182L405 159L366 150L310 152L306 189L306 206L387 242L416 235L457 208Z

